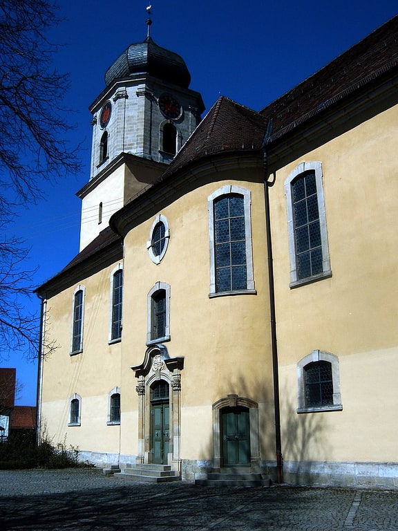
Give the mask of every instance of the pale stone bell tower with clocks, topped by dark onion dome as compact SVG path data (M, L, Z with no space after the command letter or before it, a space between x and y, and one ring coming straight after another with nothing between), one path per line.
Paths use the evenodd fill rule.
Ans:
M80 250L109 218L151 186L176 156L205 110L180 55L147 34L131 44L105 73L106 87L89 107L93 115L91 174L82 198Z

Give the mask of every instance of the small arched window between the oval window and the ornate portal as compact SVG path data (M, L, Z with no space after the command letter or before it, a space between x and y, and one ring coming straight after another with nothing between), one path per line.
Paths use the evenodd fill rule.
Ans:
M170 339L170 286L157 282L148 294L148 332L146 344Z

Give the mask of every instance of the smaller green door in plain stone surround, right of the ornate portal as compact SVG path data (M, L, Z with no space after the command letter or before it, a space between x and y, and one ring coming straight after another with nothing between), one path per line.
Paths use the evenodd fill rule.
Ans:
M249 466L249 409L245 407L226 407L221 411L221 420L223 466Z

